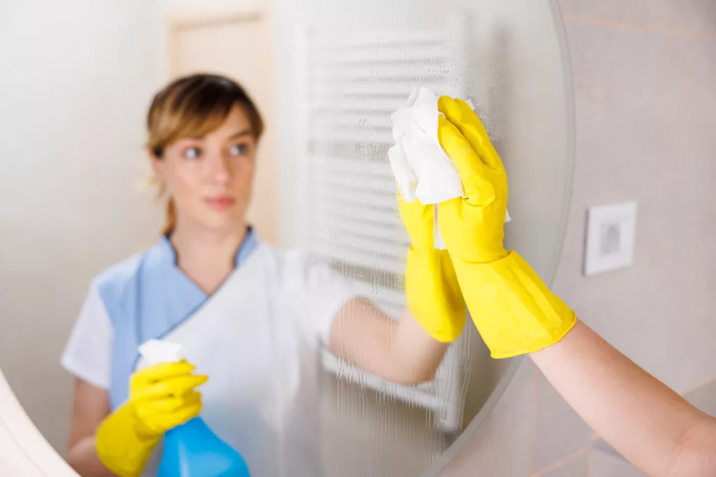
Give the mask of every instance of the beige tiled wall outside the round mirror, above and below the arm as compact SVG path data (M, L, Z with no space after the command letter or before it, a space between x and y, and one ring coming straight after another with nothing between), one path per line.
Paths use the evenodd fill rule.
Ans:
M560 0L576 108L574 190L553 290L716 415L716 2ZM584 277L586 211L637 200L634 265ZM525 358L441 476L636 477Z

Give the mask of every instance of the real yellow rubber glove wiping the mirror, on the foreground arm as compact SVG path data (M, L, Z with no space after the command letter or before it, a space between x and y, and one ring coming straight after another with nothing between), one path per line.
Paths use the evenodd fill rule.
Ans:
M473 322L493 358L546 348L571 330L574 312L503 246L507 175L478 115L450 97L438 109L437 137L466 196L442 202L438 221Z

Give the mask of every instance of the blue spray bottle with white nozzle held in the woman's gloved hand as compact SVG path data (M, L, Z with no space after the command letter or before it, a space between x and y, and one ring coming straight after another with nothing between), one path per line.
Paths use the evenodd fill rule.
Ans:
M150 340L139 347L141 367L178 363L184 359L180 345ZM241 454L218 438L199 416L170 429L157 477L249 477Z

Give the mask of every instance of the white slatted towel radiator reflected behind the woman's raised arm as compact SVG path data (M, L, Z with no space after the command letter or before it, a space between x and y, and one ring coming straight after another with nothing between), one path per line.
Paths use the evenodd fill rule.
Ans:
M302 31L296 65L302 149L299 208L305 250L354 278L362 295L399 319L410 241L397 215L387 160L390 114L413 86L465 97L466 21L442 30ZM324 366L437 413L445 431L461 427L469 356L450 346L435 379L417 386L386 383L324 350Z

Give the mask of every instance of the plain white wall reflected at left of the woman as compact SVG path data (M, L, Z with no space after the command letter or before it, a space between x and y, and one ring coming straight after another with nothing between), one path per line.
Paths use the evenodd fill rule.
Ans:
M155 238L141 195L155 3L5 1L0 12L0 364L62 448L59 366L92 276Z

